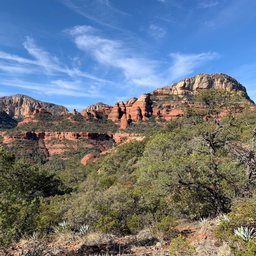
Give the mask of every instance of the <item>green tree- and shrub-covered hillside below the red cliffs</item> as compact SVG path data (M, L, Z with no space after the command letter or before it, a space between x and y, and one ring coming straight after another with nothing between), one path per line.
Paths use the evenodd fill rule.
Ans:
M111 150L94 152L96 161L85 165L82 148L62 160L54 155L32 163L12 155L17 151L11 147L2 148L3 253L22 237L28 240L26 250L41 250L35 255L84 255L102 246L115 254L120 248L142 253L159 246L168 255L255 255L256 113L235 91L201 90L194 100L204 108L184 108L183 118L145 128L141 140L108 140ZM68 129L68 116L37 115L35 131L43 124L47 131ZM83 117L73 118L80 131ZM116 131L111 120L98 120L90 119L94 130L104 132L104 124ZM28 124L9 135L17 136ZM120 236L133 240L118 245ZM67 241L71 247L81 243L79 249L63 251ZM108 244L99 245L102 241Z

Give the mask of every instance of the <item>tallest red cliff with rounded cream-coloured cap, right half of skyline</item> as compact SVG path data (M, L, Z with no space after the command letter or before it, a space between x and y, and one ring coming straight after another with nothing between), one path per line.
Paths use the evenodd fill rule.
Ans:
M142 94L138 99L132 98L124 102L116 102L108 119L111 119L120 128L126 128L129 121L147 120L154 115L167 121L183 115L182 109L195 106L190 95L202 89L217 89L227 91L243 91L247 100L250 100L245 87L231 76L225 74L198 74L184 78L171 86L158 88L151 93Z

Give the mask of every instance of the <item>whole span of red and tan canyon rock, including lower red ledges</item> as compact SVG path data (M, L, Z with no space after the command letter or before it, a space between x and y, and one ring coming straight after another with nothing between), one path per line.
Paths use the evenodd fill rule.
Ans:
M27 148L23 148L22 141L24 143L25 141L35 141L36 147L43 152L47 159L58 155L65 160L69 159L72 154L84 150L85 154L81 162L83 164L95 162L100 154L110 152L116 143L122 144L144 138L141 132L129 131L130 124L147 127L148 123L151 122L158 127L164 126L168 121L181 118L187 107L204 108L202 104L194 102L193 96L200 90L211 88L241 92L251 109L256 110L245 87L233 77L220 73L198 74L184 78L178 83L158 88L150 93L144 93L138 98L134 97L126 102L116 102L113 107L98 102L80 113L76 109L70 113L63 106L36 101L28 96L16 94L0 98L0 110L3 113L6 112L10 118L20 121L15 128L16 130L0 132L1 145L12 149L19 142L20 148L15 149L14 152L22 154L22 150L27 150ZM50 121L47 116L52 116L53 119ZM54 116L59 117L55 120ZM106 120L110 122L109 124L117 125L115 128L117 130L113 128L115 132L110 132L109 127L111 126L107 128L107 123L102 123L102 116L105 116ZM62 124L61 120L66 121L63 121ZM95 124L101 125L103 132L89 132L94 131L94 128L88 132L79 130L84 125L87 125L86 127L93 125L93 120ZM106 120L105 122L107 122ZM49 123L52 126L46 125ZM60 130L56 131L55 128L55 130L49 128L60 123ZM63 130L63 128L68 130Z

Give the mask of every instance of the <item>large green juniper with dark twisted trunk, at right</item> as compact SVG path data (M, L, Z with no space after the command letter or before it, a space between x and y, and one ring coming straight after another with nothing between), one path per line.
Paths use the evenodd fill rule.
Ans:
M206 209L220 214L232 195L244 187L246 173L241 161L232 158L226 144L234 139L242 122L237 114L246 102L241 104L243 98L236 92L212 89L202 90L195 100L204 108L189 108L188 118L149 142L139 168L143 173L140 180L146 178L171 193L185 189L196 195L195 204L202 202ZM226 116L221 118L223 113Z

